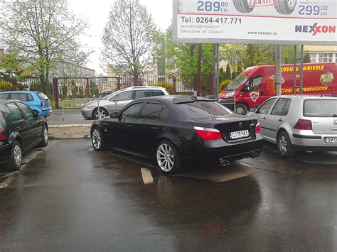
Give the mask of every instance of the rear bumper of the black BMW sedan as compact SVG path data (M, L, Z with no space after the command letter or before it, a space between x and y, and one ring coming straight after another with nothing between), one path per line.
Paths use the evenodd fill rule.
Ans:
M233 161L260 154L263 146L264 140L259 135L255 140L238 143L226 143L223 140L205 141L205 143L180 143L178 150L180 150L182 157L187 159L216 161L222 158Z

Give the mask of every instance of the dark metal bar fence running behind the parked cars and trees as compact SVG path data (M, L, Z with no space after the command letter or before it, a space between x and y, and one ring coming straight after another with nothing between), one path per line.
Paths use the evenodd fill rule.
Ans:
M92 99L99 99L118 89L132 86L161 86L165 87L170 94L195 95L197 93L196 76L194 75L50 77L45 87L42 87L38 77L7 78L6 82L11 82L14 89L45 92L54 108L62 106L65 109L80 108ZM212 96L213 76L203 75L198 91L202 96Z

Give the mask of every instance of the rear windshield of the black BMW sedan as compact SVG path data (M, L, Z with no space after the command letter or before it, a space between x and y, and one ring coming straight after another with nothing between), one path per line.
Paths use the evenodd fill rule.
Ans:
M229 109L226 109L217 102L189 102L185 104L177 104L177 106L178 109L181 109L190 119L232 114Z

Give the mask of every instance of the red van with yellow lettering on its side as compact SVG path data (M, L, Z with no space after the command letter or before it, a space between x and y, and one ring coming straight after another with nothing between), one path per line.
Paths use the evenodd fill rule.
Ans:
M299 94L299 69L296 67L296 94ZM282 94L294 92L294 64L282 65ZM304 94L337 96L337 64L309 63L304 64ZM269 97L275 95L274 65L248 67L240 73L225 89L220 92L220 103L234 110L237 114L247 114Z

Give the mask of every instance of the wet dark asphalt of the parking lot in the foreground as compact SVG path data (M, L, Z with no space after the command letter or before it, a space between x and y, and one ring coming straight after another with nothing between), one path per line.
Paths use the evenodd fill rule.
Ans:
M152 167L54 142L0 189L0 251L337 251L336 153L284 160L267 144L228 168L254 172L224 182L203 178L207 165L185 176Z

